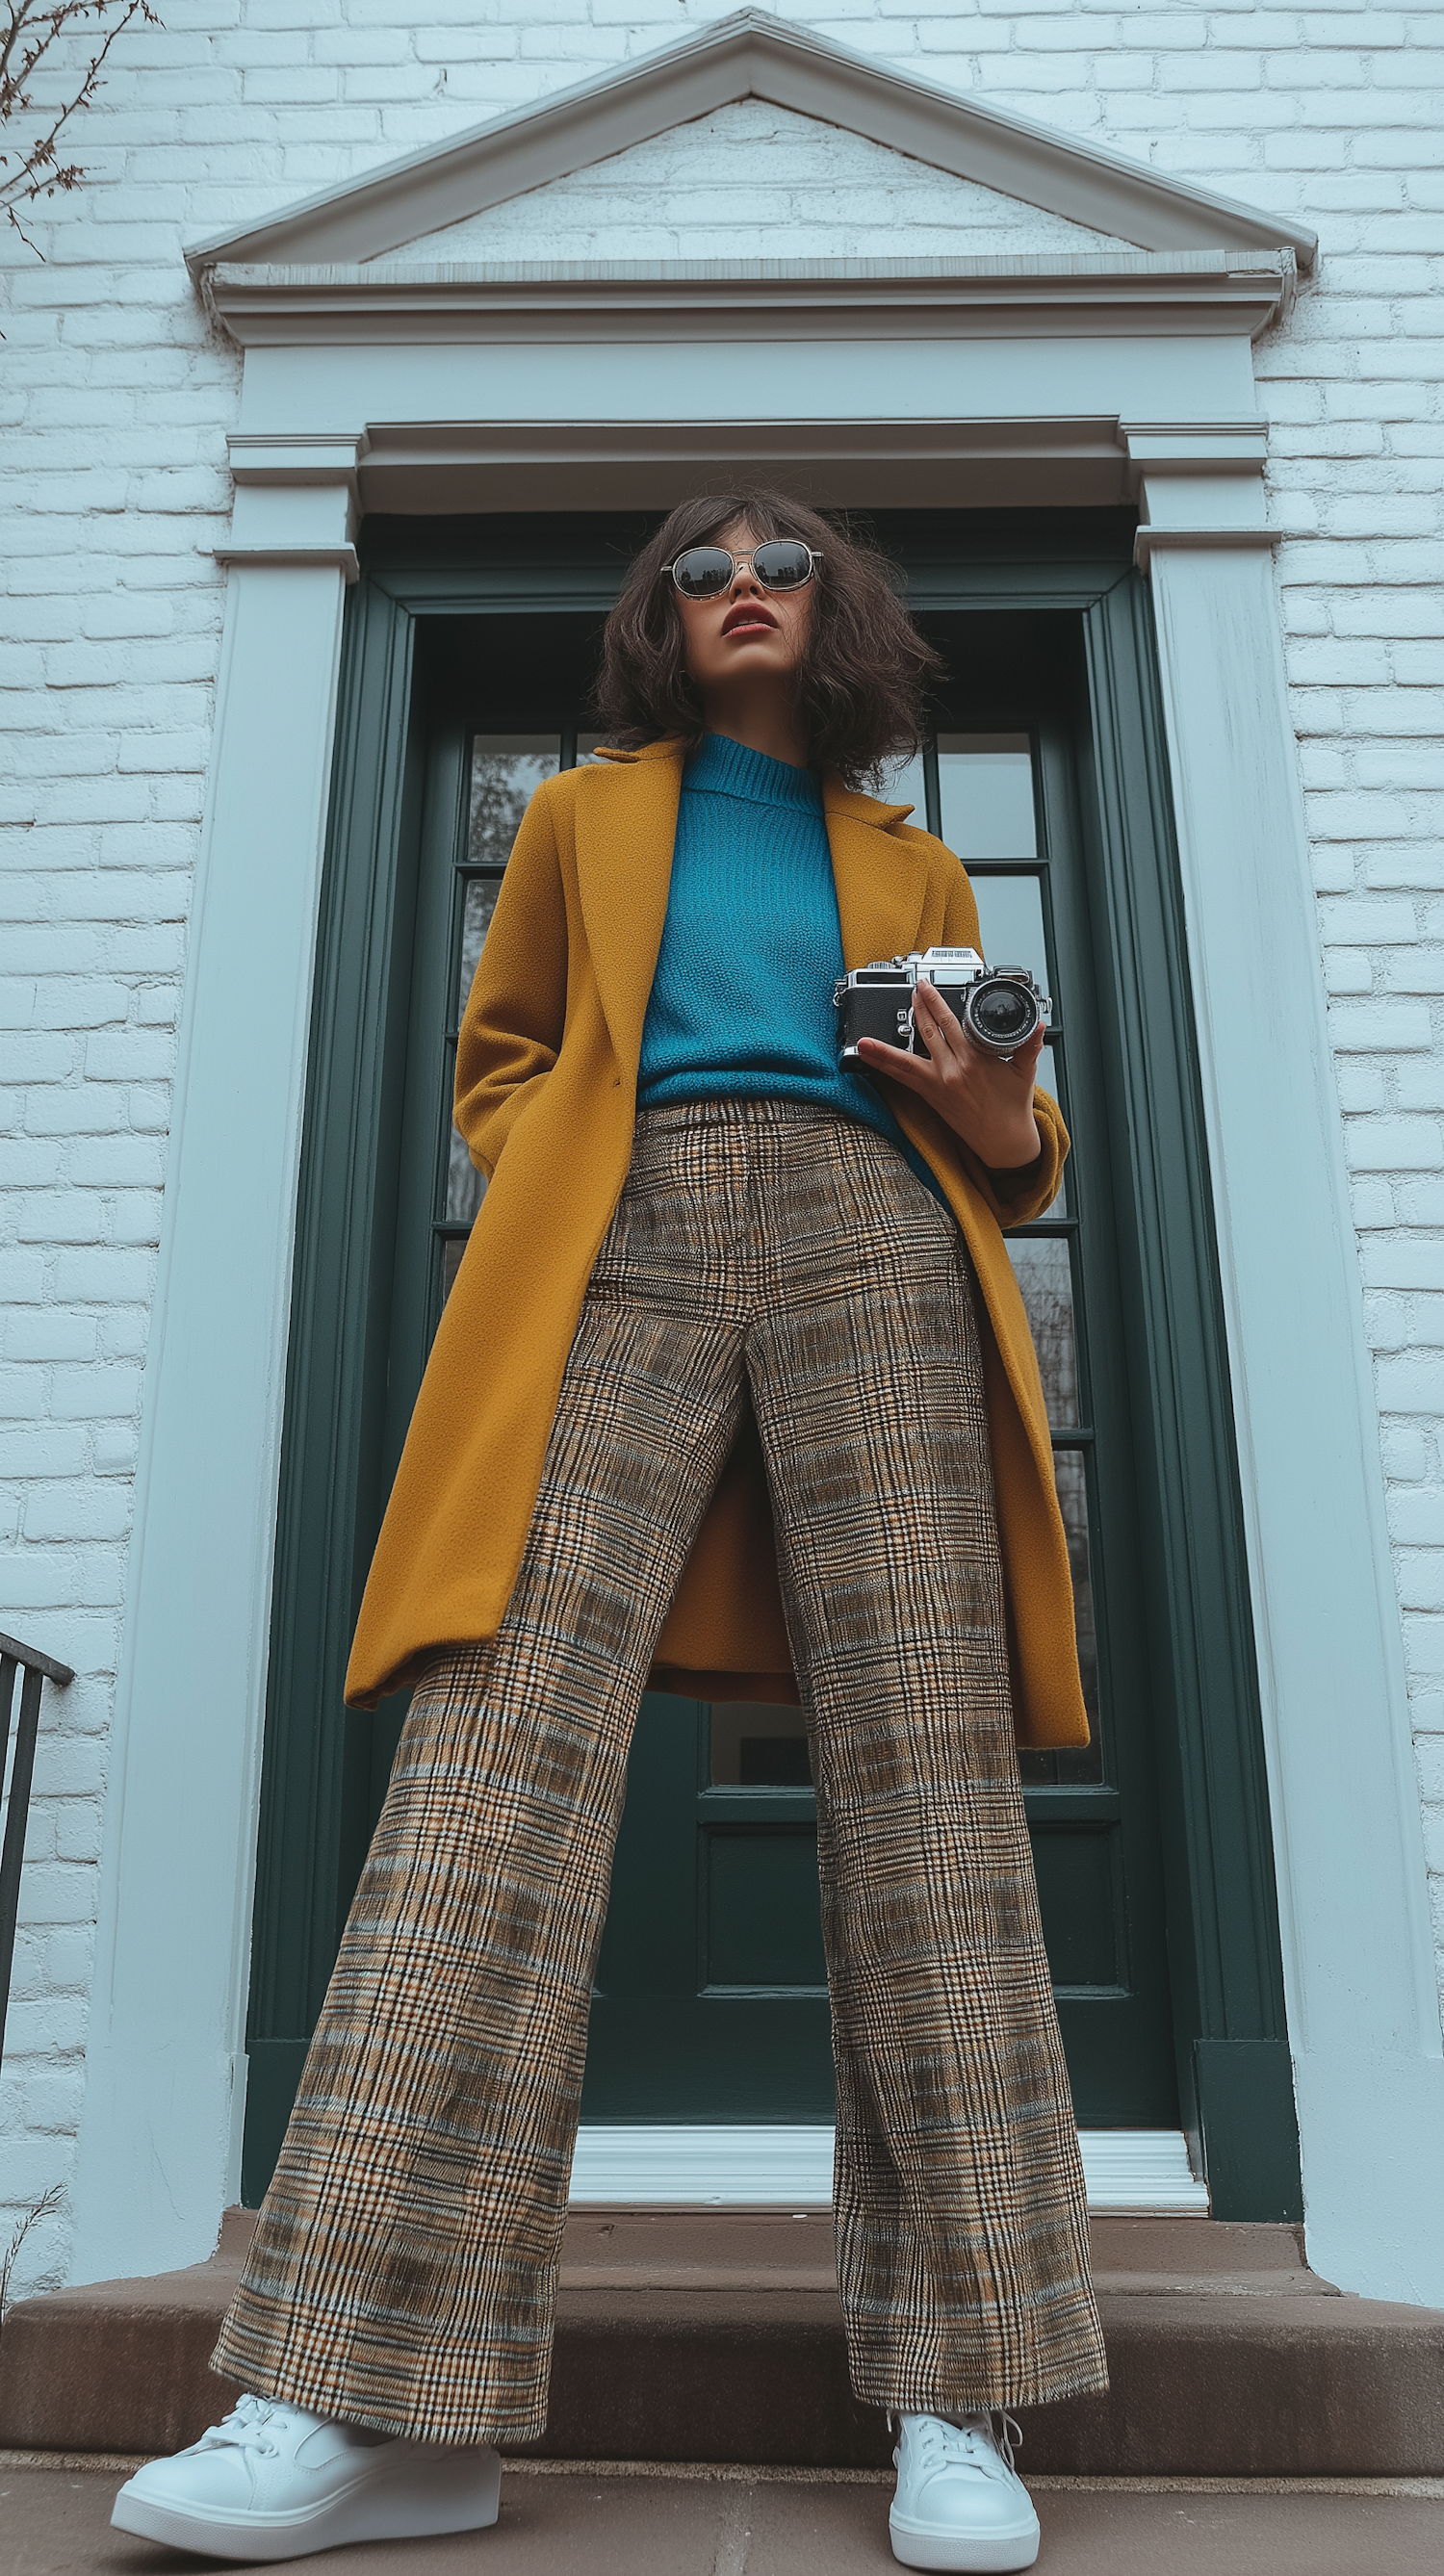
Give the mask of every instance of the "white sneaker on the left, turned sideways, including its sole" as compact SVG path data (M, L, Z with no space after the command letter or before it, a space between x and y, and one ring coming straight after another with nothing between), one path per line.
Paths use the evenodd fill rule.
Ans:
M358 2424L242 2396L172 2460L126 2478L111 2522L206 2558L309 2558L347 2540L474 2532L497 2519L494 2450L391 2442Z

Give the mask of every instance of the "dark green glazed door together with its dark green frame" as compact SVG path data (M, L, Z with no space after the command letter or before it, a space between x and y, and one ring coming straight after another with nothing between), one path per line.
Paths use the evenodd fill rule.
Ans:
M636 520L368 523L347 613L301 1157L257 1842L245 2197L270 2177L404 1703L347 1641L479 1206L456 1018L535 781L587 755ZM1233 2218L1297 2213L1228 1365L1148 598L1125 513L896 515L947 683L901 783L983 945L1058 1002L1066 1190L1012 1255L1042 1358L1094 1721L1027 1754L1086 2128L1184 2125ZM592 2120L826 2120L795 1710L646 1698L587 2069Z

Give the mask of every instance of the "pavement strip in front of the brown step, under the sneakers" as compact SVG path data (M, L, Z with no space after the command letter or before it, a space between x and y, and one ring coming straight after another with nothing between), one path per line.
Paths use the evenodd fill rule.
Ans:
M0 2455L5 2576L216 2576L111 2530L134 2463ZM1040 2576L1441 2576L1444 2478L1030 2481ZM350 2576L885 2576L891 2478L875 2470L510 2463L502 2519L450 2540L327 2550Z

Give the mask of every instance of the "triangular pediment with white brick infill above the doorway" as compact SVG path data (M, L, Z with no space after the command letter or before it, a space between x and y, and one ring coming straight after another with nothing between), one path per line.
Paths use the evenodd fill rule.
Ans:
M770 111L788 121L775 126L772 142ZM453 263L589 258L561 242L605 234L625 188L633 191L625 255L674 258L680 240L669 250L651 240L638 245L636 191L646 198L643 224L651 206L659 237L695 232L695 191L687 224L667 214L669 196L677 198L667 147L695 155L721 139L726 157L739 137L767 160L770 191L782 185L788 157L808 173L795 185L793 211L757 224L759 240L767 237L757 255L880 250L878 237L862 234L875 222L865 214L867 191L875 196L883 170L893 193L885 229L893 245L906 232L909 250L932 247L927 234L937 232L940 250L963 242L999 252L1251 247L1292 250L1308 268L1318 247L1302 224L1158 178L1097 144L867 62L808 28L741 10L245 232L196 242L185 258L193 273L219 263L373 263L399 250L417 258L422 245L425 255ZM625 185L618 183L623 162L631 165L620 173ZM744 255L734 219L710 229L728 255ZM813 234L829 234L826 250L808 247Z

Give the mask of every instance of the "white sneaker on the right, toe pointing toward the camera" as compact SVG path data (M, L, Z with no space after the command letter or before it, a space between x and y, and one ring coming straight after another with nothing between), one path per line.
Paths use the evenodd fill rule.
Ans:
M898 2494L888 2514L893 2558L906 2568L1030 2568L1037 2514L1012 2465L1022 2432L994 2409L958 2416L901 2416Z

